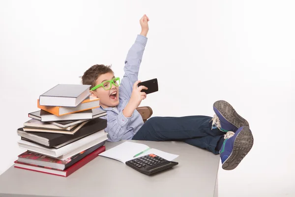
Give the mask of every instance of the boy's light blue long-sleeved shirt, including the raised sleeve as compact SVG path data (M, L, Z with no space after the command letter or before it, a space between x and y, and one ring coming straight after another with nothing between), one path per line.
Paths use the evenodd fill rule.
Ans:
M125 73L119 86L118 111L114 110L113 107L103 108L100 106L101 109L107 111L107 115L101 118L107 119L108 122L105 129L105 132L108 133L108 141L116 142L121 139L132 139L144 124L142 116L137 110L134 110L132 116L128 118L123 115L122 110L131 97L133 84L138 80L139 67L147 41L147 37L137 35L135 43L128 51L124 66Z

